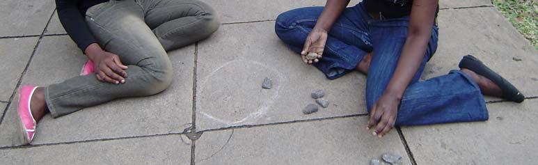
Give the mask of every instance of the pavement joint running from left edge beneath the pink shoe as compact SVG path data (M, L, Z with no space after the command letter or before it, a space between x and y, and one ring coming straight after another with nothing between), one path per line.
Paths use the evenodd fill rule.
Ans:
M68 141L68 142L58 142L58 143L42 143L35 145L26 145L26 146L9 146L1 147L0 150L11 150L11 149L24 149L24 148L36 148L41 146L59 146L59 145L68 145L68 144L77 144L77 143L92 143L97 141L116 141L116 140L125 140L125 139L140 139L140 138L149 138L149 137L159 137L159 136L172 136L172 135L183 135L187 132L175 132L175 133L166 133L166 134L151 134L151 135L142 135L142 136L123 136L116 138L105 138L105 139L90 139L84 141Z

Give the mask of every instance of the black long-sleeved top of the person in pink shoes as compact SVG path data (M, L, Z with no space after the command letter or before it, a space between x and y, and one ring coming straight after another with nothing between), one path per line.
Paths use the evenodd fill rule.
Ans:
M63 29L68 32L82 52L88 45L97 42L84 19L86 10L106 1L109 0L56 0L56 10L58 10Z

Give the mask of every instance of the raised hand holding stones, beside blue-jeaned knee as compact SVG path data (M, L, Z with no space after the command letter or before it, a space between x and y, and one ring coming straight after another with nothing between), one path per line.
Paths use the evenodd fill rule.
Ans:
M308 37L306 37L305 45L303 46L303 51L301 52L301 58L303 58L304 63L311 64L312 62L317 63L319 58L322 58L323 51L325 49L325 43L327 42L327 31L321 28L314 28ZM306 58L308 53L316 53L317 58L313 61Z

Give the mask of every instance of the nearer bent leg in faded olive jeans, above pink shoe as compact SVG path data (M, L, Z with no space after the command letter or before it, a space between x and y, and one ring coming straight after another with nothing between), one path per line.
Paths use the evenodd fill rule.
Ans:
M154 95L171 84L171 62L143 21L141 8L132 1L109 1L94 7L88 10L86 22L100 46L118 54L129 67L128 77L125 84L109 84L88 74L47 86L45 97L53 117L119 97Z

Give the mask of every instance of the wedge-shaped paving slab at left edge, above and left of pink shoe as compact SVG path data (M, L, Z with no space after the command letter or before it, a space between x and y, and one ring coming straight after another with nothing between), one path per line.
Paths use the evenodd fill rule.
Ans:
M38 39L38 37L0 39L1 101L9 101Z

